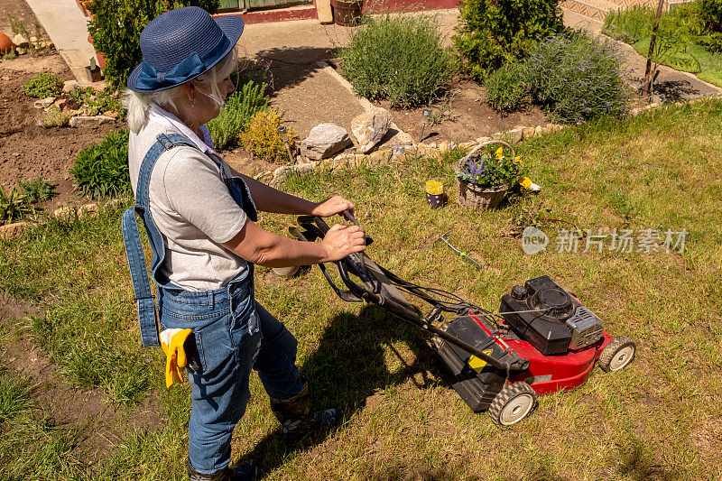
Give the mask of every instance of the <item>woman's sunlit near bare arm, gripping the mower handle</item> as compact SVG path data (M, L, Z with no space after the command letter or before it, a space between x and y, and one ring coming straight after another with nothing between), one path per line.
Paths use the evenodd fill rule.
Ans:
M358 226L335 225L320 243L277 236L250 219L230 241L223 244L234 254L266 267L319 264L343 259L366 249L364 231Z

